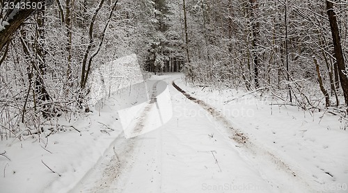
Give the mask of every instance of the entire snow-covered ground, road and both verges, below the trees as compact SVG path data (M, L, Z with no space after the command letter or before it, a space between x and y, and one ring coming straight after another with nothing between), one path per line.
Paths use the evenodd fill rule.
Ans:
M142 135L125 137L114 96L88 115L60 119L65 131L0 142L0 192L348 192L348 131L339 117L270 106L277 102L257 93L211 92L181 76L152 77L168 84L173 115ZM143 116L134 131L157 115L150 104L134 112Z

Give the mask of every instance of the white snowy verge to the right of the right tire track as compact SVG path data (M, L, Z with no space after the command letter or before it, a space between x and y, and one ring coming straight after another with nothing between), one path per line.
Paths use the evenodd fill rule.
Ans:
M257 94L224 105L225 101L245 93L193 87L181 79L175 83L192 97L222 112L234 128L290 165L297 176L316 190L348 192L348 155L345 153L348 131L342 129L345 122L340 122L339 117L324 112L311 115L294 106L271 106L277 101L270 97L260 98Z

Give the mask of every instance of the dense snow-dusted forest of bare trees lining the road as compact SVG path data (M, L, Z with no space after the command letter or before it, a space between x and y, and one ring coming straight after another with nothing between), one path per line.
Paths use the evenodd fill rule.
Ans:
M88 112L90 74L132 53L144 74L182 72L193 85L262 91L284 105L345 119L347 1L1 0L0 6L1 139Z

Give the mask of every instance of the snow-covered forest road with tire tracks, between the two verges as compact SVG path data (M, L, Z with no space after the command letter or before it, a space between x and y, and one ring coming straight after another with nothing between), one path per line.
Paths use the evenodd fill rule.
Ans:
M138 137L119 135L72 192L318 192L217 110L179 92L176 78L165 80L173 118Z

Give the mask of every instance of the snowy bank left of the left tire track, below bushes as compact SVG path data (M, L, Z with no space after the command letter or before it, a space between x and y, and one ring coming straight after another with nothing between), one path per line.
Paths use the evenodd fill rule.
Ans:
M10 160L0 156L1 192L67 192L122 133L116 119L116 115L102 117L93 112L72 117L70 123L63 119L58 122L70 124L80 133L67 128L49 137L42 133L22 141L2 141L0 151L6 151Z

